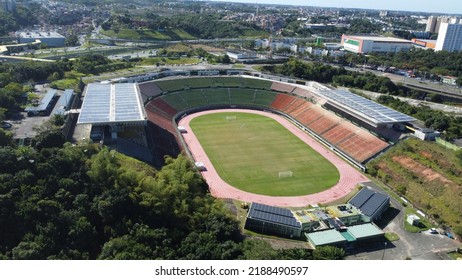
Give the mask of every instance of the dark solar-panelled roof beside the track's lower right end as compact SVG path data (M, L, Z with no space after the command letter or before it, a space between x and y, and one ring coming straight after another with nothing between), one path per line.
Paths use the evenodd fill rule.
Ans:
M368 188L361 189L349 203L369 217L372 217L390 197L381 193L374 192Z

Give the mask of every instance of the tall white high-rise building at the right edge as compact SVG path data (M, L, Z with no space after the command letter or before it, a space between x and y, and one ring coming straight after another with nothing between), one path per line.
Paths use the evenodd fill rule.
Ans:
M462 24L441 23L435 50L448 52L461 51Z

